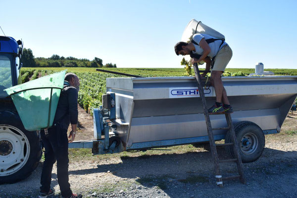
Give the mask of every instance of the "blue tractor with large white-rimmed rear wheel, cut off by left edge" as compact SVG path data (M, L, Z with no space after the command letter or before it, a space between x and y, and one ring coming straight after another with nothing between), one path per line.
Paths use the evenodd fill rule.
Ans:
M27 131L10 96L3 91L21 83L23 43L0 36L0 184L27 178L42 155L39 133Z

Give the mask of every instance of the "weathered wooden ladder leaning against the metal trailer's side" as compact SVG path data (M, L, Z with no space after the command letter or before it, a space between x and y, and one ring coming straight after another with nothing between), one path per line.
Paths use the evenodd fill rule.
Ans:
M236 140L236 136L235 136L235 132L234 132L234 126L233 126L233 123L232 123L231 115L230 115L230 113L225 114L228 127L211 128L208 109L207 109L206 100L205 100L205 96L204 96L204 92L203 92L203 88L202 88L202 83L201 83L201 77L200 77L200 73L204 72L204 71L201 71L201 72L199 71L197 63L194 63L194 70L195 70L195 78L198 81L199 95L200 95L200 98L202 100L202 106L203 106L203 110L204 110L204 116L205 116L205 122L206 122L206 127L207 127L208 138L209 138L209 145L210 145L211 155L212 155L212 158L214 160L216 184L219 187L223 187L223 181L232 180L232 179L240 179L240 181L243 184L246 184L246 179L244 177L244 171L243 171L243 163L242 163L241 155L240 155L240 152L239 152L239 147L238 147L238 144L237 144L237 140ZM212 133L213 130L228 130L229 133L230 133L230 136L231 136L232 143L215 144L213 133ZM234 154L235 154L236 158L219 160L216 148L221 147L221 146L231 146L231 145L233 146L233 150L234 150ZM238 175L230 176L230 177L222 177L219 163L223 163L223 162L236 162L237 169L238 169Z

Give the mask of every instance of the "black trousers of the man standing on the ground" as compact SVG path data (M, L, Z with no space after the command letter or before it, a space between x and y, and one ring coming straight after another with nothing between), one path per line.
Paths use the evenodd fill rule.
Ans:
M68 177L68 138L67 130L59 126L49 128L48 135L41 131L41 139L45 148L45 161L41 174L40 190L49 192L51 182L52 166L57 161L57 178L60 186L61 196L72 195Z

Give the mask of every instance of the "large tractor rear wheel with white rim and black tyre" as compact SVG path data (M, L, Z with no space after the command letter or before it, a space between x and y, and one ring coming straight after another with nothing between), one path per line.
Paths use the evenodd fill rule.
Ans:
M0 112L0 184L27 178L41 155L39 133L25 130L17 114Z

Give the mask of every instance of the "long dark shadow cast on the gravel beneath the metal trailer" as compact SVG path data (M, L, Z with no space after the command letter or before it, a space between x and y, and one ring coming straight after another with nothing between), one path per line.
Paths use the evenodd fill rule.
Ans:
M224 149L218 149L218 154L219 156L225 156L222 159L228 158ZM121 157L121 160L122 163L98 165L98 168L95 169L70 171L69 174L84 175L110 171L120 178L135 179L144 187L157 186L172 198L190 197L188 192L197 194L217 188L211 153L208 151L141 155L137 157L125 156ZM272 186L278 185L280 187L278 178L286 177L287 174L296 175L296 163L297 151L265 148L262 156L257 161L244 164L248 185L241 184L239 180L234 180L228 181L224 189L229 189L227 191L231 192L236 190L234 188L243 188L242 190L248 193L248 189L260 188L261 185L267 182L271 183ZM238 174L235 163L221 164L221 169L223 176ZM275 180L271 181L270 178L275 178ZM176 188L180 189L180 191L177 191ZM269 189L265 189L265 191L267 191L264 192L267 195L271 193Z

